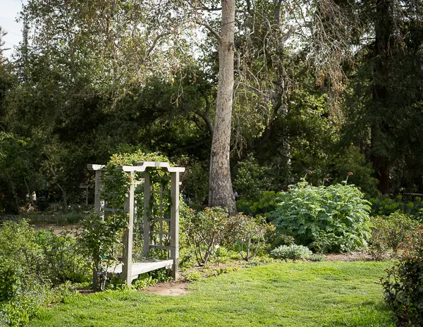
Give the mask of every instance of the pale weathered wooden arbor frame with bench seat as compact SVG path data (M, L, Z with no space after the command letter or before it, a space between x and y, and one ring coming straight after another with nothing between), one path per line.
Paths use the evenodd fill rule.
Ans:
M102 192L102 178L104 177L102 165L88 165L88 168L95 171L95 202L94 206L99 216L104 216L104 212L108 211L104 207L104 201L101 199ZM150 197L152 192L152 178L149 171L154 168L161 168L171 175L171 210L170 217L166 218L162 215L153 217L151 214ZM133 228L135 216L135 183L131 183L128 196L125 197L125 204L123 213L129 217L128 228L125 230L123 237L123 256L122 264L112 266L108 269L109 273L118 273L123 280L131 285L132 280L137 278L141 273L147 273L161 268L172 269L172 277L174 280L178 279L179 267L179 173L183 173L183 167L171 167L167 162L155 161L141 161L137 166L120 166L118 169L130 173L134 181L135 172L143 173L144 175L144 210L142 216L142 230L144 239L144 259L141 262L133 263ZM135 181L134 181L135 182ZM161 192L161 191L160 191ZM110 210L109 210L110 211ZM161 212L161 209L160 209ZM159 231L152 229L152 221L159 223ZM168 228L164 228L164 223L168 224ZM166 232L166 230L168 230ZM159 237L159 242L153 242L153 235ZM164 245L164 236L170 239L170 245ZM148 252L150 249L164 249L168 250L168 260L152 261L148 260Z

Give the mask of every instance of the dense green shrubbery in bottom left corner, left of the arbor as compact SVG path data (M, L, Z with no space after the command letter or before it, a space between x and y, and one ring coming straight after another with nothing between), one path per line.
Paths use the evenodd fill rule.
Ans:
M75 240L36 232L27 221L0 228L0 326L25 326L40 307L61 298L55 282L82 276ZM78 279L78 278L77 278Z

